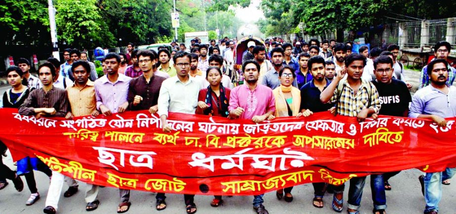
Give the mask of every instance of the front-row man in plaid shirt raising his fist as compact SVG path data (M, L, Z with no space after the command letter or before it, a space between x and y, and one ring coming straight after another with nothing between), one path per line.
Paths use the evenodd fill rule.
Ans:
M366 58L359 54L351 54L345 59L345 69L337 72L331 84L321 93L323 103L335 103L335 113L343 116L357 117L358 122L364 122L372 116L376 119L380 110L380 99L375 86L361 79ZM345 73L347 78L344 79ZM341 82L342 81L342 82ZM361 196L366 177L350 179L348 192L348 213L359 214ZM336 212L343 210L344 184L334 188L332 209Z

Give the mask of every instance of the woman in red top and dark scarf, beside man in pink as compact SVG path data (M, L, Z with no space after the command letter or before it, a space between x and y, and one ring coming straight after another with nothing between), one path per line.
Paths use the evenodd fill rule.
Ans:
M215 117L228 117L228 105L230 103L230 89L223 87L222 71L218 67L209 67L206 72L206 80L209 82L207 89L200 90L198 94L198 108L196 114ZM215 195L210 206L218 207L223 204L222 196Z

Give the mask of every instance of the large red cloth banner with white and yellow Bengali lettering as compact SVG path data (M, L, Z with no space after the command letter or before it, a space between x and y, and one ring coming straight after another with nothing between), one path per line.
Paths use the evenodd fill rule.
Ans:
M253 195L310 182L456 164L455 119L446 127L408 118L318 113L252 123L171 113L171 133L147 111L74 120L0 109L0 140L15 160L36 155L87 183L142 191Z

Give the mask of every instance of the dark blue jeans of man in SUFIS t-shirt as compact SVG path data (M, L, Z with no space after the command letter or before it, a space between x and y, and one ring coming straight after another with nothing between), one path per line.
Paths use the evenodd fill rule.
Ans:
M386 209L385 181L399 174L399 172L387 172L379 175L371 175L372 201L375 210Z

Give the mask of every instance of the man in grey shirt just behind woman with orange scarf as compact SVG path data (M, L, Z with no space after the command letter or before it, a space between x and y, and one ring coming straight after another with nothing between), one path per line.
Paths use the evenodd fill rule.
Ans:
M269 70L263 77L261 77L261 85L267 86L272 90L280 86L279 71L283 67L284 53L284 49L281 47L272 49L271 60L274 67ZM298 87L296 78L294 79L292 86L296 88Z

